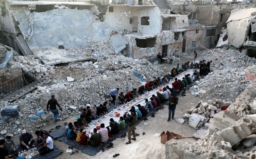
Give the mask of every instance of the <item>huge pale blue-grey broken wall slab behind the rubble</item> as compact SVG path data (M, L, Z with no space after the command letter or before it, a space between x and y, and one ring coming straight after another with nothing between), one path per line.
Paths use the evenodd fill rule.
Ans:
M46 12L19 12L14 14L30 49L52 46L82 49L87 42L109 39L120 52L127 44L106 22L96 21L89 10L54 9ZM34 32L33 32L34 30ZM112 35L112 36L111 36ZM42 40L44 39L44 40Z

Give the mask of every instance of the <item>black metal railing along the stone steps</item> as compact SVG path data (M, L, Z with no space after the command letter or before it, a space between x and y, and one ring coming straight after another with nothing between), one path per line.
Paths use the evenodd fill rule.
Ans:
M36 69L32 69L20 76L14 77L9 81L0 84L0 98L22 88L24 85L36 79Z

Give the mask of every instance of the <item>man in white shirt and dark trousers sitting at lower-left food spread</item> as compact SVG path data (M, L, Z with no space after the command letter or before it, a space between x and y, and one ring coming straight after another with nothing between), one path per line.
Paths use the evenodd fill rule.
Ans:
M45 155L54 150L52 138L48 136L47 132L44 132L42 141L44 146L39 148L40 155Z

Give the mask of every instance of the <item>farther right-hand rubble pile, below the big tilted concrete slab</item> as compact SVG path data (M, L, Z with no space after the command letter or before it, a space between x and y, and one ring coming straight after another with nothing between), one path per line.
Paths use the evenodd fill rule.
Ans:
M213 52L219 53L223 56L220 56ZM248 67L256 64L256 59L247 56L245 54L245 51L239 52L239 51L226 50L221 48L213 49L206 56L204 56L203 60L206 60L206 61L212 60L211 68L216 68L216 69L225 69L227 67L241 68L241 67Z

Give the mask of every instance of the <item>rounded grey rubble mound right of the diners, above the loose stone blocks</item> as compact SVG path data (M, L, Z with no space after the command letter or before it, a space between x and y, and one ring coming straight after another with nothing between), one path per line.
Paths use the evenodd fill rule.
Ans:
M245 77L245 69L225 68L220 71L209 73L190 88L192 95L211 99L212 97L234 101L236 97L244 91L249 79Z

